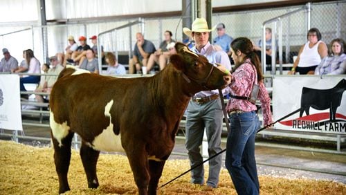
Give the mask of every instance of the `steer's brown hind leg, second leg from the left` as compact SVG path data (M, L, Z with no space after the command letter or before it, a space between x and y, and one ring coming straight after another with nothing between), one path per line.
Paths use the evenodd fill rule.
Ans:
M98 187L98 176L96 174L96 165L98 163L98 156L100 151L92 149L85 142L82 142L80 147L80 158L82 158L82 163L84 171L86 174L86 179L88 180L89 188Z

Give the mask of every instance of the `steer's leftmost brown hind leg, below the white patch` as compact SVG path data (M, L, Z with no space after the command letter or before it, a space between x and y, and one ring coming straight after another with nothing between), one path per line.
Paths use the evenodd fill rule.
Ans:
M73 132L69 132L69 134L61 140L61 145L57 139L52 136L55 170L59 178L59 194L70 190L67 172L69 171L71 160L71 142L73 134Z

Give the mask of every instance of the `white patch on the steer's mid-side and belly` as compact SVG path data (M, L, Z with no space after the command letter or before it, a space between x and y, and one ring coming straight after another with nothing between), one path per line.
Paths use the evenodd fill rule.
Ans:
M96 136L93 140L93 149L99 151L125 151L121 146L120 134L116 136L113 131L113 123L111 123L111 106L113 106L113 100L108 102L104 107L104 115L109 117L109 126L103 129L102 133Z

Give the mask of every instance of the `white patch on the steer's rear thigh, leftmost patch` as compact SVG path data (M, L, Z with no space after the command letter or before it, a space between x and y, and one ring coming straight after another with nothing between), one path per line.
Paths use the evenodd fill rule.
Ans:
M53 137L59 142L59 147L62 147L62 139L69 134L70 127L67 125L67 121L59 124L54 120L54 113L50 111L49 124L51 124Z

